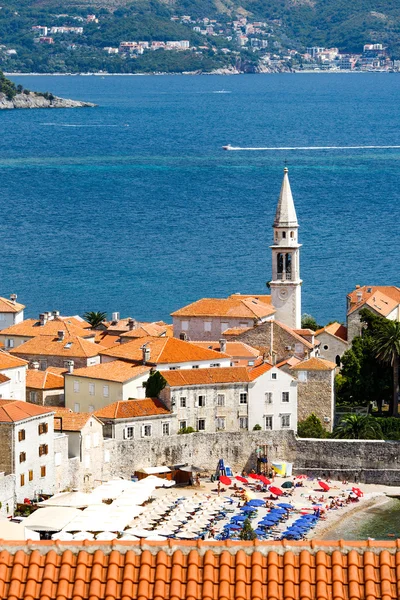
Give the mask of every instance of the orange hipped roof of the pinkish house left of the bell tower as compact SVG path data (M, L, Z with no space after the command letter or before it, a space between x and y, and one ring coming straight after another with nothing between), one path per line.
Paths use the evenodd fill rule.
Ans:
M229 298L201 298L171 313L173 317L231 317L254 319L273 315L275 309L254 296Z

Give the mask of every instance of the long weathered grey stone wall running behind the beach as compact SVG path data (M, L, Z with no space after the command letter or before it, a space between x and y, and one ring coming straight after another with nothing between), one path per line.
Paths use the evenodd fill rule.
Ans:
M220 458L236 472L249 471L257 465L257 449L264 446L270 461L291 462L297 473L400 485L400 442L297 439L291 431L108 440L110 461L103 465L103 479L130 478L142 467L182 463L214 471Z

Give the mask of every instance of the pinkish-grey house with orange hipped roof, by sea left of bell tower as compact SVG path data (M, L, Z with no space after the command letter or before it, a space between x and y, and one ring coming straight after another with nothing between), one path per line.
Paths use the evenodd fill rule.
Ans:
M232 294L202 298L176 310L174 336L189 341L218 340L227 329L246 329L274 317L270 296Z

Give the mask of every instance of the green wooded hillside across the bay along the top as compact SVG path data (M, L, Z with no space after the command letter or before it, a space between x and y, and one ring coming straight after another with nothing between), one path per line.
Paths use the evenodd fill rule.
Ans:
M98 22L86 22L95 14ZM191 22L171 20L190 15ZM260 37L268 51L306 47L338 47L360 53L366 43L381 43L392 59L400 59L399 0L8 0L0 9L0 68L22 72L151 72L209 71L238 66L255 69L262 54L249 39L241 47L232 36L232 21L246 16L262 21ZM217 21L216 35L194 30L200 19ZM83 34L55 35L39 43L32 27L77 27ZM203 25L200 23L201 27ZM201 28L200 27L200 28ZM52 35L52 34L49 34ZM250 36L255 37L255 36ZM107 54L121 41L188 40L187 52ZM200 47L200 50L199 50Z

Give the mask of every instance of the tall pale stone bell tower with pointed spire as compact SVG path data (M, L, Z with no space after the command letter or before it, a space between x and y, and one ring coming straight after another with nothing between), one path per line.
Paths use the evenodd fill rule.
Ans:
M293 329L301 328L300 247L296 210L290 189L288 169L283 171L281 193L273 224L272 281L275 317Z

